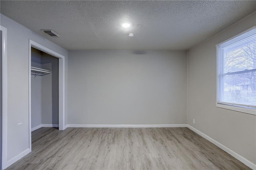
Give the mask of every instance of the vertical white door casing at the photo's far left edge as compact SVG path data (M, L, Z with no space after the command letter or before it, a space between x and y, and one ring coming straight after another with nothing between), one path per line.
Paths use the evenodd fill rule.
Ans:
M7 168L7 29L2 31L2 168Z

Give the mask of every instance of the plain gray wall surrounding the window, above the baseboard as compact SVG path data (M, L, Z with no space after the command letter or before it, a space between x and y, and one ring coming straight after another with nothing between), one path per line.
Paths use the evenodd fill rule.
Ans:
M188 124L256 163L256 116L216 107L215 45L256 25L256 13L188 51ZM192 123L195 119L195 124Z

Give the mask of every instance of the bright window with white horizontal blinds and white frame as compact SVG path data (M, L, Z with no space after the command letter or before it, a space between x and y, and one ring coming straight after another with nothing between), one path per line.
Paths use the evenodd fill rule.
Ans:
M216 47L216 106L256 115L256 28Z

